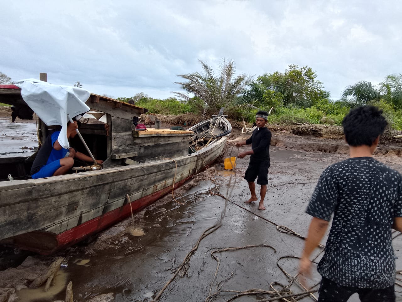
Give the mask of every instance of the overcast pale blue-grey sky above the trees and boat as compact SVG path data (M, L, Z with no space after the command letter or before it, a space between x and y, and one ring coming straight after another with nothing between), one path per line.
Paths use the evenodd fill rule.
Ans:
M256 78L289 64L316 71L332 99L357 81L402 73L400 1L8 1L0 72L92 93L167 98L176 74L233 59Z

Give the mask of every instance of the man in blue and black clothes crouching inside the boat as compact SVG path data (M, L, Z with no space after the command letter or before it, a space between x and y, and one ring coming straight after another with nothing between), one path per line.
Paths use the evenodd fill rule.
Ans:
M67 138L72 139L76 136L78 124L76 121L67 123ZM57 138L60 131L55 131L46 138L45 143L39 149L31 168L32 178L43 178L49 176L64 175L74 165L74 157L82 161L92 162L92 158L77 152L74 148L64 149ZM102 164L103 160L96 160Z

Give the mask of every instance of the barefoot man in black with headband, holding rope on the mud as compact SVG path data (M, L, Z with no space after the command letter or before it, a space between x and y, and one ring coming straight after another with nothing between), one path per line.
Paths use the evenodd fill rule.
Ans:
M268 169L271 165L269 145L271 144L272 134L271 131L265 127L267 120L268 112L258 111L255 119L257 128L252 132L251 137L246 141L236 143L237 147L251 144L251 150L239 153L238 157L243 158L246 155L251 155L246 174L244 174L244 179L247 180L248 188L250 188L251 198L245 201L245 203L252 203L258 200L254 183L258 176L257 184L261 185L261 197L258 206L260 210L265 210L264 199L267 193Z

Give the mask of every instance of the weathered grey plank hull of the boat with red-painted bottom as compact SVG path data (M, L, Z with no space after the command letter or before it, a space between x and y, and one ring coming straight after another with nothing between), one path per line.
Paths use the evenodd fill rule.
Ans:
M176 188L204 170L223 151L227 140L222 137L174 160L1 182L0 240L41 254L79 242L126 218L131 208L146 207L170 192L173 185Z

